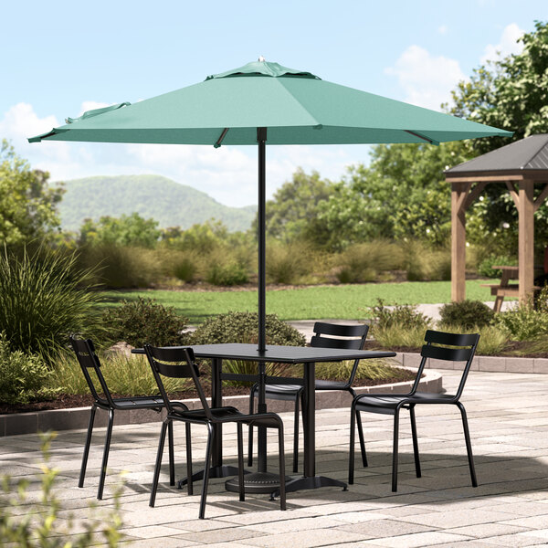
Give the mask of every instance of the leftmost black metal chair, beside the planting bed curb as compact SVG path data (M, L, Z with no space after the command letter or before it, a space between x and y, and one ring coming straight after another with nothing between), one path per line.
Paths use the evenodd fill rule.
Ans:
M98 408L104 409L109 412L109 423L107 426L107 434L105 437L105 445L103 449L103 458L100 468L100 479L99 479L99 490L97 492L97 498L102 499L103 489L105 485L105 476L107 474L107 463L109 460L109 451L111 448L111 437L112 437L112 424L114 421L114 411L128 411L131 409L154 409L160 412L163 409L163 399L158 395L145 395L137 397L112 397L111 391L107 386L105 378L100 370L100 360L95 353L95 346L90 339L77 339L74 336L70 337L70 343L72 348L76 353L78 358L79 365L82 369L84 377L90 386L90 392L95 401L91 406L90 410L90 425L88 427L88 437L86 437L86 445L84 446L84 455L82 457L82 466L80 469L79 475L79 487L84 487L84 478L86 476L86 468L88 466L88 456L90 454L90 444L91 444L91 434L93 432L93 423L95 421L95 413ZM91 378L90 371L93 371L99 381L99 385L95 385L93 379ZM103 397L100 396L102 393ZM175 406L182 407L183 409L188 409L181 402L174 402ZM170 458L170 469L172 474L170 476L171 484L175 484L175 475L174 475L174 443L173 443L173 428L170 428L169 431L169 458Z

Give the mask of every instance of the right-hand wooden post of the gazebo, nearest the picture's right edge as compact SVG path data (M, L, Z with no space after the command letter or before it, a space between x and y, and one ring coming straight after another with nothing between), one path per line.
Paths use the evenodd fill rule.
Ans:
M534 279L534 181L520 181L519 215L519 265L520 302L532 296Z

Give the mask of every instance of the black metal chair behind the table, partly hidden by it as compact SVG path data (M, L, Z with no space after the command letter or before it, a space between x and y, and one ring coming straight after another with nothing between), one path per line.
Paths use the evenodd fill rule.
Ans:
M311 346L317 348L345 348L350 350L361 350L367 337L369 325L339 325L336 323L325 323L316 321L314 323L314 335L311 338ZM328 335L328 336L323 336ZM332 337L347 337L345 339ZM348 381L323 381L317 379L315 383L316 390L344 390L355 397L353 391L353 380L358 369L360 360L355 360ZM293 428L293 471L299 469L299 408L302 408L304 387L302 385L266 385L266 397L275 400L295 401L295 423ZM249 414L253 413L255 408L255 396L258 395L258 385L251 388L249 394ZM300 403L300 407L299 407ZM362 422L358 418L358 432L360 443L364 448L364 432ZM248 439L248 466L253 464L253 428L249 428Z

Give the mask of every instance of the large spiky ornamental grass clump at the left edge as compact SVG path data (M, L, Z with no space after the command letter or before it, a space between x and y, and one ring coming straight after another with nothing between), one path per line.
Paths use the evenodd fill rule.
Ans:
M0 254L0 332L11 349L49 361L70 332L99 332L100 294L89 285L92 275L77 268L74 253L24 248L18 256Z

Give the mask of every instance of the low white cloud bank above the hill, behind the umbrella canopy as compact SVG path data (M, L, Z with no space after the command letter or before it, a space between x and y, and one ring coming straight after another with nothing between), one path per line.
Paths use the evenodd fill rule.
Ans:
M81 112L105 106L86 101ZM19 103L0 118L0 135L33 168L48 171L52 181L92 175L161 174L188 184L225 205L256 204L256 146L192 146L96 142L38 142L27 137L60 125L55 116L40 118L32 105ZM271 196L302 167L322 177L338 179L349 163L367 160L364 146L272 146L267 148L267 195Z

